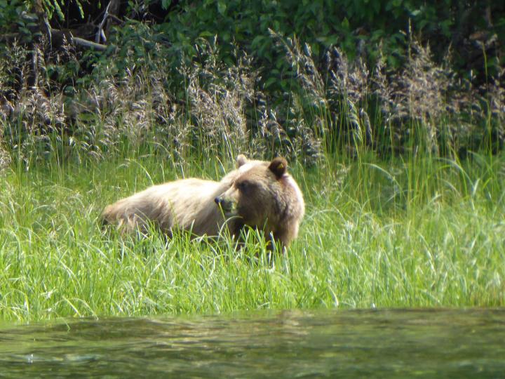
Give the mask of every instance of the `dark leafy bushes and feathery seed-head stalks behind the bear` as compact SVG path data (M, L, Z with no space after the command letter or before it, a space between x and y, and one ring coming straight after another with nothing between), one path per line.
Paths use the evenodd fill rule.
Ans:
M463 16L475 2L135 4L121 14L142 20L112 29L105 51L69 41L55 49L40 35L8 43L0 56L4 149L27 162L149 145L178 159L191 149L241 150L313 164L325 151L445 155L497 151L505 140L500 5L486 8L496 11L492 28L487 15L469 28ZM19 21L14 32L33 20L21 17L25 2L0 6ZM152 6L165 7L164 20L142 16ZM469 39L480 46L473 63L482 58L485 69L462 75L454 64L462 53L447 55L447 46L459 39L454 30L480 27L499 38Z

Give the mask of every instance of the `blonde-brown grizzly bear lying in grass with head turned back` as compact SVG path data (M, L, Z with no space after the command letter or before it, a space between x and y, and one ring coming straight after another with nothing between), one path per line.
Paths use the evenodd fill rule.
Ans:
M304 200L287 166L284 158L255 161L241 154L220 182L190 178L154 185L105 207L102 220L123 232L145 234L154 225L168 237L173 230L215 237L224 227L238 237L247 225L288 247L297 237Z

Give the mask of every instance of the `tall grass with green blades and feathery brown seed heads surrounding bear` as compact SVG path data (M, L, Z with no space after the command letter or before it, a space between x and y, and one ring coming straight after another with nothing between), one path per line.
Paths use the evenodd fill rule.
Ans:
M11 91L0 107L1 319L504 305L499 81L459 81L416 41L391 71L337 48L321 67L309 46L273 38L297 84L277 99L253 60L224 65L215 44L181 68L177 91L149 56L123 72L97 66L69 93L42 63L36 86L17 84L10 67L32 69L21 46L0 57ZM290 160L307 213L285 255L269 259L252 230L239 250L100 230L112 201L176 178L219 180L240 153Z

